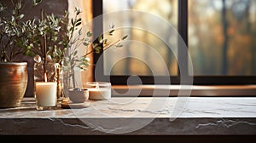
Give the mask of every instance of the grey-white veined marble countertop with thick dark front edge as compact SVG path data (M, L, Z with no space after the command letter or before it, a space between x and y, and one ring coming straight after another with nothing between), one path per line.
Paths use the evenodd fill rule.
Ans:
M37 111L33 98L0 109L0 134L256 134L253 97L113 97Z

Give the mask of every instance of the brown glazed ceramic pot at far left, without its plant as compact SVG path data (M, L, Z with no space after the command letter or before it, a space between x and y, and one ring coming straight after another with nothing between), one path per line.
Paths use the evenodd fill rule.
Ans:
M0 63L0 108L20 106L26 86L26 62Z

